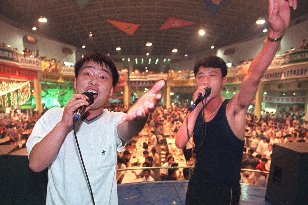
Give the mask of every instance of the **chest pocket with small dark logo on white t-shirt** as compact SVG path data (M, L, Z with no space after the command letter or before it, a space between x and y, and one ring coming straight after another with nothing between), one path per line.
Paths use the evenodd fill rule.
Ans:
M99 169L107 169L116 165L115 151L111 146L99 147Z

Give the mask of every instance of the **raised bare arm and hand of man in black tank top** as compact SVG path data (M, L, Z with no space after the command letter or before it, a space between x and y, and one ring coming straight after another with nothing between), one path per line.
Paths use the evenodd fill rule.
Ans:
M281 42L279 38L283 36L289 26L290 7L296 9L297 1L269 0L269 22L271 29L260 53L251 62L236 98L237 105L241 108L248 108L253 101L259 82L279 48ZM278 39L278 41L271 42L273 41L271 39Z

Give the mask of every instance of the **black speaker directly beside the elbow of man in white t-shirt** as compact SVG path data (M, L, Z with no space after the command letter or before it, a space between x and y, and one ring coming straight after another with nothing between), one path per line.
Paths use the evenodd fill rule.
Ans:
M47 190L47 168L34 172L29 168L26 148L7 155L12 204L44 205Z

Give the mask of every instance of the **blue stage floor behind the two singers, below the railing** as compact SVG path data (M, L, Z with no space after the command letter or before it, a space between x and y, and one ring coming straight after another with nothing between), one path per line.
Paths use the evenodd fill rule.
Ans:
M158 181L119 184L119 205L184 205L187 183L188 181ZM265 187L249 184L241 186L240 205L272 205L265 200Z

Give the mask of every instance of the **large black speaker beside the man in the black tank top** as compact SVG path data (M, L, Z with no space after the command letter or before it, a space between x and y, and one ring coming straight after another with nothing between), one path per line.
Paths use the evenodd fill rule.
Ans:
M265 199L273 205L308 204L308 143L274 144Z

